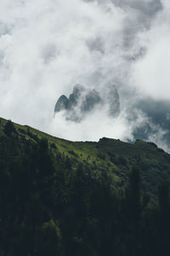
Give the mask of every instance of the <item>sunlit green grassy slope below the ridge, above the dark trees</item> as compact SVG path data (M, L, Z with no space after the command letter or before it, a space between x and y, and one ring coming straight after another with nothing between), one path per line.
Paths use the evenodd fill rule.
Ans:
M0 135L7 120L0 119ZM61 154L68 155L77 163L84 163L94 169L106 170L113 177L114 186L125 187L127 177L133 166L139 166L143 190L151 196L156 195L156 188L161 178L170 175L170 155L153 143L123 143L120 140L103 138L96 142L71 142L52 137L27 125L14 124L20 137L26 139L46 137L48 143L55 144ZM35 141L36 142L36 141Z

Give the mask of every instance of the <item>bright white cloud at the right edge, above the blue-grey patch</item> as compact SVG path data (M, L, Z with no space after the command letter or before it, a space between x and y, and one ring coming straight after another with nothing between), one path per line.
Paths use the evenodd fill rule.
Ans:
M133 63L131 80L145 95L164 100L170 100L169 21L162 22L159 18L149 32L140 35L140 42L147 51Z

